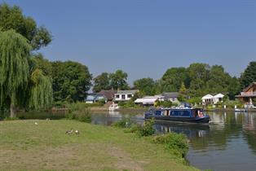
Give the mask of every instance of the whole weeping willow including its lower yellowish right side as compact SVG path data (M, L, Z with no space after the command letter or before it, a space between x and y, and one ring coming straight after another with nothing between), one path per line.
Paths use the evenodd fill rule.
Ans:
M15 117L18 108L50 107L51 78L29 57L32 47L14 30L0 33L0 108Z

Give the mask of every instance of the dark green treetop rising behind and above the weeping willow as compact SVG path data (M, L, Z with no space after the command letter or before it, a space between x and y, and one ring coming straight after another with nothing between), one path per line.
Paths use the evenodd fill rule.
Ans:
M51 33L37 23L31 17L22 14L20 7L10 7L7 3L0 4L0 30L14 29L16 33L29 40L33 50L47 46L51 42Z

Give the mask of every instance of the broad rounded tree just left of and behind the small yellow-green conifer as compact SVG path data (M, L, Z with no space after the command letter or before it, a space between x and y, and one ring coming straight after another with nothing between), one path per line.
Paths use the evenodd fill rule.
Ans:
M169 68L161 77L163 91L179 91L182 83L189 85L188 70L186 68Z

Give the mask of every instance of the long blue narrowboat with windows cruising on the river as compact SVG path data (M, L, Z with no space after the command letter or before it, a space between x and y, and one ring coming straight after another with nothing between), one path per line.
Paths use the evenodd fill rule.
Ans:
M144 118L204 124L210 121L210 116L205 115L201 108L192 107L151 108L148 112L145 112Z

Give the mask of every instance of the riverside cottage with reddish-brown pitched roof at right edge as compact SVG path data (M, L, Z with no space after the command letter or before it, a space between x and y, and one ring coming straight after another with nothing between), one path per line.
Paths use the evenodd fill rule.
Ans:
M236 98L243 103L253 105L253 99L256 99L256 82L251 83L246 87L240 95L236 95Z

